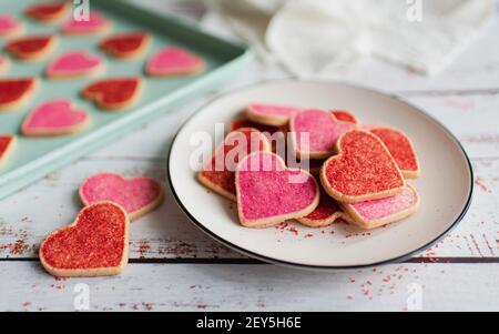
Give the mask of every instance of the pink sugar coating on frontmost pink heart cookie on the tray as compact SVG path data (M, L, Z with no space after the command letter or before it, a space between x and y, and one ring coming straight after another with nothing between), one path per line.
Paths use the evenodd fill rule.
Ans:
M88 117L83 110L71 109L70 100L52 100L39 105L22 124L22 129L67 129L83 123Z

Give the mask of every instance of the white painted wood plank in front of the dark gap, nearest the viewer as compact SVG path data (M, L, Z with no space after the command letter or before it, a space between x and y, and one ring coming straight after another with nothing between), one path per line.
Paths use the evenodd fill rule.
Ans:
M54 280L38 262L0 262L0 310L74 311L82 297L74 289L83 283L90 311L407 311L411 301L422 311L498 311L498 274L499 264L328 273L257 264L129 264L121 276Z

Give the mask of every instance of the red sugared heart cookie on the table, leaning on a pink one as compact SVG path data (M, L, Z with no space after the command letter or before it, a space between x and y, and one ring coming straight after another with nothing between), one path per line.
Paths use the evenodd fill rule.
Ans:
M40 245L40 261L54 276L120 274L129 259L129 216L112 202L83 208L69 226L50 233Z

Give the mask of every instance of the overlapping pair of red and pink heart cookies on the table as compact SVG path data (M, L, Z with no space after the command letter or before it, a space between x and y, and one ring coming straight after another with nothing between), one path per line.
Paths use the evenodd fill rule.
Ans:
M83 209L72 224L44 239L41 264L54 276L120 274L129 260L130 222L162 203L161 184L150 178L98 173L83 181L79 195Z

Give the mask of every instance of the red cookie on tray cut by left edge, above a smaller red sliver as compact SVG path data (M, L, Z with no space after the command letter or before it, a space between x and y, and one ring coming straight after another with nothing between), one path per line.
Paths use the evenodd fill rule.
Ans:
M37 81L33 78L0 80L0 111L21 107L32 94Z

